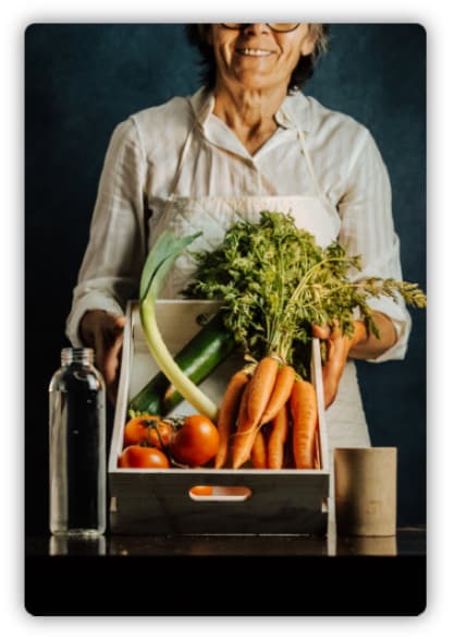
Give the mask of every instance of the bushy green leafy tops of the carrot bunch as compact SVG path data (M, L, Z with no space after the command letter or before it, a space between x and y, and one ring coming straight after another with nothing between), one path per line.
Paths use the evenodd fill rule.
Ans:
M302 374L312 325L336 321L352 335L359 309L367 330L378 335L370 298L402 296L407 304L426 304L415 284L377 277L354 282L360 256L347 255L337 242L318 246L282 213L262 212L258 224L233 225L218 249L196 252L194 258L197 270L184 294L224 300L225 324L247 359L273 353Z

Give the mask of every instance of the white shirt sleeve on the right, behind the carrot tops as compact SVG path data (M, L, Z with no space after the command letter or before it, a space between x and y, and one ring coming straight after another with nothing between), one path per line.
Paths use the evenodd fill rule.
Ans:
M364 140L353 157L347 189L339 203L342 219L339 241L351 255L361 255L361 270L352 277L403 279L399 239L392 216L392 193L389 173L371 134L364 130ZM388 315L396 333L396 343L371 362L404 359L411 328L410 315L403 299L381 296L370 298L371 309Z

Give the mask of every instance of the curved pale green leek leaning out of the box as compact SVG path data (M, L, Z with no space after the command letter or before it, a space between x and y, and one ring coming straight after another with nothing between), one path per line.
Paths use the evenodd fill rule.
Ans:
M218 407L182 371L170 353L157 323L155 304L161 291L164 277L179 255L201 233L177 238L170 231L163 232L150 250L143 268L139 287L140 324L150 353L158 366L195 410L216 421Z

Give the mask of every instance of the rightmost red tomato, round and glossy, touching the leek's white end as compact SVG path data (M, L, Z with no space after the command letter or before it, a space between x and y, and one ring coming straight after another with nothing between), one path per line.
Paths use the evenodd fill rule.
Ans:
M179 463L202 466L212 459L220 445L217 426L201 414L188 415L176 430L169 450Z

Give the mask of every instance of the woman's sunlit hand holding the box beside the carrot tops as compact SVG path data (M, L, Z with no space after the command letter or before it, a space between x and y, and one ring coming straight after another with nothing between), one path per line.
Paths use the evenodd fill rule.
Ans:
M379 328L380 337L368 335L364 322L354 322L354 335L342 335L340 327L313 326L312 334L327 341L328 357L322 366L322 382L324 387L324 403L328 408L333 403L341 376L347 358L374 359L392 348L397 336L392 321L382 313L373 313L374 324Z

